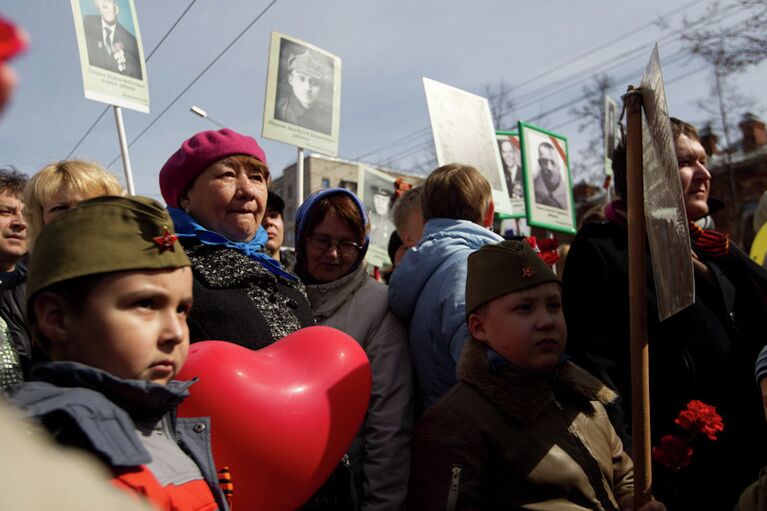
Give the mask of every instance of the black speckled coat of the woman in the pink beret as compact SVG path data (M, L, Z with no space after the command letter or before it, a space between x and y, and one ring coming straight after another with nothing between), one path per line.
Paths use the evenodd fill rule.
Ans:
M299 280L279 277L231 248L185 242L184 249L194 275L187 320L192 342L222 340L260 349L314 325Z

